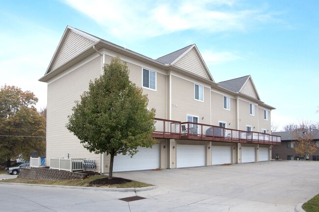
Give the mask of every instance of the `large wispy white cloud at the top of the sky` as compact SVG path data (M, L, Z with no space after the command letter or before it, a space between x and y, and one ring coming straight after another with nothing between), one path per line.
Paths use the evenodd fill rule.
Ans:
M63 0L122 39L143 39L181 30L215 33L245 30L272 20L263 10L236 10L235 0ZM267 17L267 19L261 17Z

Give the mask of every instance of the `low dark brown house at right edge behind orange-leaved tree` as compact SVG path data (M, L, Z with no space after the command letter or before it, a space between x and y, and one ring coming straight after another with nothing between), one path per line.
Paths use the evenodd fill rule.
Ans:
M297 154L294 150L291 132L272 132L273 135L281 136L281 145L273 146L272 148L272 159L282 159L282 160L301 160L304 159L302 155ZM314 142L317 142L317 147L319 147L319 130L314 133ZM319 148L317 148L314 154L309 155L306 160L319 161Z

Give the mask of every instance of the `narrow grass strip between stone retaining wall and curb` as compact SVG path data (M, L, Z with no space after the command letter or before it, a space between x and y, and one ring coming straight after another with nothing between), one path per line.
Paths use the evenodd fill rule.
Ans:
M57 185L57 186L84 186L84 187L104 187L104 188L142 188L153 186L146 183L132 181L123 184L114 185L89 185L88 183L101 178L106 178L106 175L95 175L88 177L84 180L39 180L39 179L28 179L28 178L15 178L1 180L1 183L27 183L27 184L40 184L40 185Z

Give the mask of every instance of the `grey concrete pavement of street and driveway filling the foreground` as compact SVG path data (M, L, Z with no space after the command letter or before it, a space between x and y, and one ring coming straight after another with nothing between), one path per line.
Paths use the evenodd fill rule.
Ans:
M294 212L296 205L319 193L317 162L214 165L119 172L114 176L151 183L157 188L134 192L0 183L0 211ZM135 195L146 199L119 200Z

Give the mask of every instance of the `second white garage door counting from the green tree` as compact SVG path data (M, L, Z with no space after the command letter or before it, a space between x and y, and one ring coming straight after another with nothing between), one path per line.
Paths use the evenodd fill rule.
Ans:
M205 145L176 145L176 167L204 166L206 159Z

